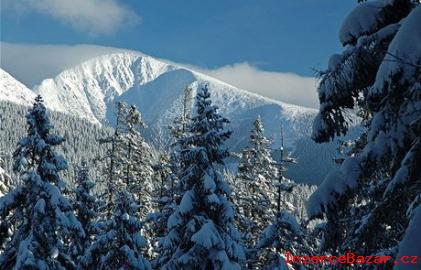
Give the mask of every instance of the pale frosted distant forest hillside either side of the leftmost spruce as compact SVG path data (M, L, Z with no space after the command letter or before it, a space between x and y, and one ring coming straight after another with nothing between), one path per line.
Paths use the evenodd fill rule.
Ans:
M25 115L28 108L12 102L0 100L0 155L4 157L3 168L9 175L13 175L13 153L18 140L26 134ZM69 164L80 164L83 159L93 160L105 155L103 147L98 147L97 139L110 134L111 128L97 125L86 119L81 119L63 112L49 111L48 117L56 133L61 134L66 140L60 145L62 154ZM99 164L101 165L101 164ZM99 178L102 167L91 170L92 178ZM62 175L65 183L72 183L75 179L75 170L67 170ZM20 178L13 175L12 185L18 184Z

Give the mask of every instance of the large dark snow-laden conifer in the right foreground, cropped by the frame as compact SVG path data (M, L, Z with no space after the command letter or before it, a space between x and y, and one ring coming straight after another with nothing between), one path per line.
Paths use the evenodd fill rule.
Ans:
M345 134L356 105L367 131L309 200L310 217L327 217L326 250L395 257L400 248L406 209L420 194L420 25L421 6L410 0L361 3L342 25L346 50L322 73L313 138Z

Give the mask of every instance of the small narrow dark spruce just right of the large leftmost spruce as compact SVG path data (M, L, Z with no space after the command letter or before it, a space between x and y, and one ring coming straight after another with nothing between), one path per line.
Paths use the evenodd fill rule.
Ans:
M95 183L89 178L88 164L86 161L82 161L76 172L73 208L85 235L75 239L71 245L71 255L75 260L84 254L96 234L94 224L97 214L100 212L101 202L93 194L94 188Z

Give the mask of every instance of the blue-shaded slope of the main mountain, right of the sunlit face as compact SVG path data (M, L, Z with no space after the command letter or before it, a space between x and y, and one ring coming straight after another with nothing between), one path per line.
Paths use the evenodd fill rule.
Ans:
M312 110L275 102L186 69L162 74L154 81L129 89L116 100L139 107L149 126L158 129L155 138L162 134L164 138L159 139L165 140L167 126L180 114L183 89L187 85L194 92L208 85L212 102L231 120L230 128L234 134L229 143L234 150L247 143L251 124L257 115L264 121L265 133L276 140L283 125L288 145L292 145L297 136L308 134L314 115ZM108 119L111 115L108 113Z

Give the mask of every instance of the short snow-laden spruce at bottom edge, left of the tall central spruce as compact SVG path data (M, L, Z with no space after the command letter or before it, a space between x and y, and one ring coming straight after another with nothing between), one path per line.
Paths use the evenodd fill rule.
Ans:
M141 234L138 208L130 193L117 194L111 218L98 224L100 234L80 260L82 269L152 269L142 254L146 240Z

